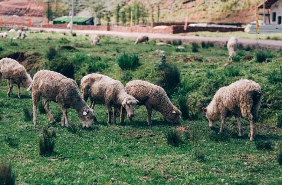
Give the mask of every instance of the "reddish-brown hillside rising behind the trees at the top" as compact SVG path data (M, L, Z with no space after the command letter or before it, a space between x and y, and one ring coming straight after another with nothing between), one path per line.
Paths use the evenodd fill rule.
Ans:
M157 20L157 5L159 4L160 22L184 21L187 12L190 22L215 23L249 23L254 20L255 3L261 2L259 0L80 0L75 1L75 13L79 16L92 16L93 7L99 3L103 4L106 10L113 11L117 4L127 6L132 5L134 1L144 3L149 14L149 18L146 18L146 21L151 20L150 3L154 7L153 15L155 21ZM66 12L70 11L70 1L54 0L51 3L53 10L55 9L56 2L61 9L65 9ZM4 0L0 2L0 16L16 14L19 16L44 17L46 8L47 3L44 3L43 0Z

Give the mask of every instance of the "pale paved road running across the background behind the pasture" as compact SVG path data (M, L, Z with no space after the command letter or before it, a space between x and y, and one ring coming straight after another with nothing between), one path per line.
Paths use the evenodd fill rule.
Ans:
M45 31L55 31L59 33L69 33L68 29L58 29L58 28L38 28L38 27L29 27L32 30L45 30ZM77 34L97 34L97 35L106 35L110 37L124 37L124 38L137 38L140 35L147 35L150 39L163 39L163 40L182 40L182 42L202 42L202 41L211 41L217 45L224 44L229 40L229 37L195 37L195 36L181 36L181 35L169 35L169 34L160 34L160 33L131 33L131 32L117 32L117 31L103 31L103 30L74 30L74 33ZM239 38L239 43L242 43L244 46L250 45L255 47L255 39L243 39ZM282 40L258 40L258 46L261 49L282 49Z

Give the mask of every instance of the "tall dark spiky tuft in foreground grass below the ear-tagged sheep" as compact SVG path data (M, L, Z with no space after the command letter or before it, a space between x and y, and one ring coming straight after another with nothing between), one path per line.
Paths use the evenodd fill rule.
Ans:
M55 140L53 134L46 128L43 128L43 134L38 139L40 155L52 155L55 147Z

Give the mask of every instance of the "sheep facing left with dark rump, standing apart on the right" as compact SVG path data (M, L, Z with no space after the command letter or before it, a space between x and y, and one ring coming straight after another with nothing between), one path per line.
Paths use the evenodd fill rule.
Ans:
M255 122L258 120L258 110L261 104L261 87L254 81L241 79L235 81L229 86L219 88L215 93L210 104L203 108L206 117L209 120L210 128L214 128L214 122L221 118L222 128L227 116L234 115L238 124L239 136L242 136L242 127L240 116L248 119L251 131L249 133L250 141L254 139Z

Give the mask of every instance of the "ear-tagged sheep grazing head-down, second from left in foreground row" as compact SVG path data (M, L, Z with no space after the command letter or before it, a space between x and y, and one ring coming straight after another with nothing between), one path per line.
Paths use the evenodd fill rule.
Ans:
M40 70L35 73L32 83L32 102L33 102L33 123L37 124L36 109L41 95L45 98L44 108L48 118L55 123L50 109L49 102L58 103L63 111L61 126L68 127L67 108L73 108L78 113L78 118L82 121L83 127L92 126L93 120L97 122L97 118L93 110L83 100L78 90L77 83L60 73L48 70Z

